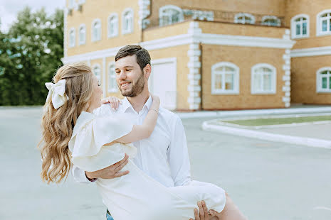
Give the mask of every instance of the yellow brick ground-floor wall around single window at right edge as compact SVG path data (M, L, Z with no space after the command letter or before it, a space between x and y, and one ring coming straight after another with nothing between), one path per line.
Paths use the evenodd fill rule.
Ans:
M316 72L331 66L331 55L291 60L291 99L294 103L331 104L331 94L316 92Z

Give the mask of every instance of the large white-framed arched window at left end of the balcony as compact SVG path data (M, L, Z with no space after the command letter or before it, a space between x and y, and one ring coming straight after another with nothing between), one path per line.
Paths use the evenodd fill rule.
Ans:
M159 26L184 21L184 13L178 6L167 5L159 9Z

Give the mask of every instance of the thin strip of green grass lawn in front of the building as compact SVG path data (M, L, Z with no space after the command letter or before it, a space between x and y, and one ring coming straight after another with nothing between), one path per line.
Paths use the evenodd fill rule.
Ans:
M250 119L250 120L222 121L222 122L235 123L241 126L269 126L276 124L303 123L303 122L312 122L312 121L331 121L331 116L310 116L310 117L283 118L283 119Z

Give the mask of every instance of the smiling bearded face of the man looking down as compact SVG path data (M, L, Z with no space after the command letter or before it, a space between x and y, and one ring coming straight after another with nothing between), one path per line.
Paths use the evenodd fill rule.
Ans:
M122 57L115 62L116 82L123 97L136 97L145 87L144 72L137 63L137 56Z

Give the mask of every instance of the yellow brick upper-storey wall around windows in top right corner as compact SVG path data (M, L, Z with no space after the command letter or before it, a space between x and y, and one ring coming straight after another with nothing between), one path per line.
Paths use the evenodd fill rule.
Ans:
M321 11L331 9L331 1L328 0L288 0L285 7L285 23L290 27L290 19L304 13L310 17L310 37L305 39L295 39L297 43L293 49L315 48L330 46L331 35L316 36L316 16Z

